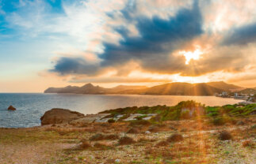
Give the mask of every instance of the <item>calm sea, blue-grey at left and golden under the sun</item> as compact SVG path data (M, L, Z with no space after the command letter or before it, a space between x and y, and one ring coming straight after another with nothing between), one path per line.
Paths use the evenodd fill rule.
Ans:
M0 94L0 127L25 128L40 125L40 117L52 108L75 110L82 114L97 114L103 110L126 106L174 106L183 100L196 100L207 106L222 106L241 102L238 99L215 96L179 95L76 95L43 93ZM17 108L8 111L8 106Z

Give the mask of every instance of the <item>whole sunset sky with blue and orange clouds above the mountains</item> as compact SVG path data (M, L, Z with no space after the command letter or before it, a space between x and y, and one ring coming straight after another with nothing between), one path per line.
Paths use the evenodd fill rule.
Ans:
M256 87L254 0L0 0L0 92Z

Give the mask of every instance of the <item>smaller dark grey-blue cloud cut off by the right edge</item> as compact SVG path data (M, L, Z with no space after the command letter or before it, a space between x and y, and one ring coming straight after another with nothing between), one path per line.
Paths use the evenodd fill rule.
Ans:
M224 37L223 45L246 45L256 42L256 22L235 28Z

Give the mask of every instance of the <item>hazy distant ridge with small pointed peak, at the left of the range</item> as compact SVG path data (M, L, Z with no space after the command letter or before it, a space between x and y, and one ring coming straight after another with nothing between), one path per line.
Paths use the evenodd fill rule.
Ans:
M147 87L119 85L115 88L101 88L100 86L94 86L93 84L89 83L83 85L82 87L75 87L69 85L65 88L48 88L44 91L44 93L113 94L119 91L142 88Z

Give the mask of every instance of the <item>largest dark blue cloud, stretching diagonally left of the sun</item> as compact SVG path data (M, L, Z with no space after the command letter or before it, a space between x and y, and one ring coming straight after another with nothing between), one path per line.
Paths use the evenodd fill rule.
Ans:
M179 73L185 69L185 58L171 54L203 33L203 20L197 1L191 9L179 9L174 17L168 19L157 16L131 18L128 12L134 8L136 6L132 5L123 9L122 13L126 19L136 22L138 36L128 35L128 29L124 26L115 28L122 39L118 45L103 43L104 53L98 54L100 65L90 65L82 58L60 58L52 71L60 74L94 74L102 68L118 69L128 62L137 62L142 69L158 73Z

